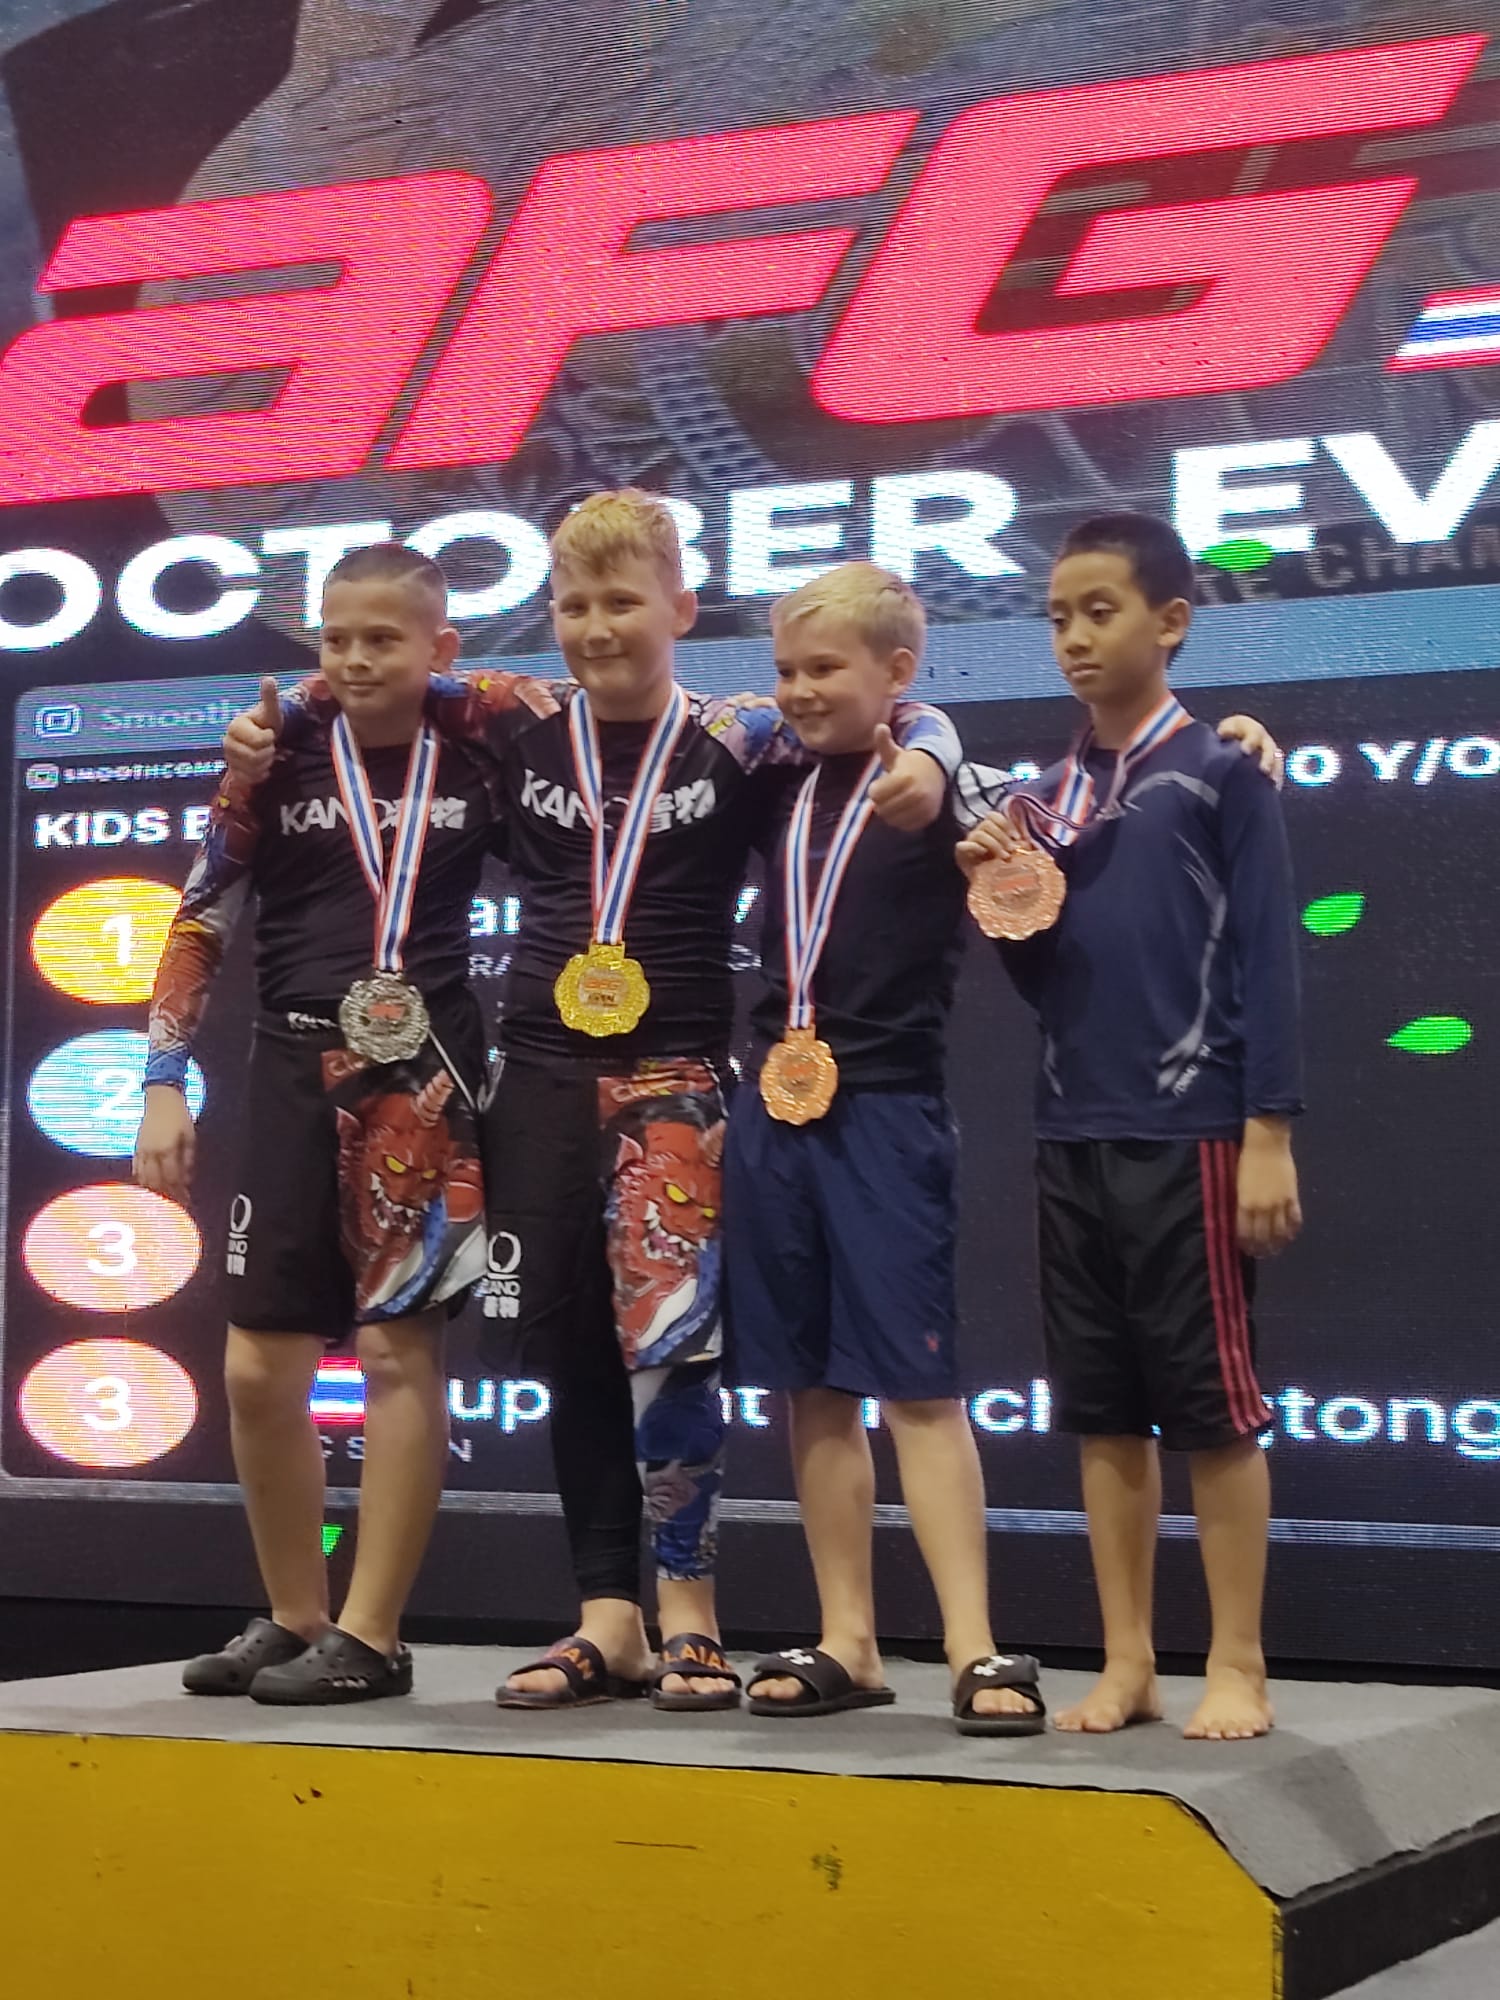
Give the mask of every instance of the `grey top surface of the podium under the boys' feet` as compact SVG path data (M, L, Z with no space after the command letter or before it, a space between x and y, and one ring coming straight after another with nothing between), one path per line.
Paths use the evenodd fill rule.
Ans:
M772 1722L744 1710L656 1714L644 1702L550 1716L498 1710L494 1686L524 1658L418 1648L410 1698L316 1710L194 1700L176 1666L24 1680L0 1686L0 1730L1158 1792L1206 1820L1278 1898L1500 1816L1500 1692L1480 1688L1278 1682L1270 1738L1196 1744L1180 1728L1200 1682L1166 1680L1166 1722L1120 1736L994 1740L956 1736L944 1670L904 1660L888 1666L894 1708ZM1082 1674L1046 1676L1052 1708L1086 1686Z

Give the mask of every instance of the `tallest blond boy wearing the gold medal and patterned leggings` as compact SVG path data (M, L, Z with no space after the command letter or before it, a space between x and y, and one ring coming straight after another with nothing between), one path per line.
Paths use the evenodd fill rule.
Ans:
M678 690L672 648L696 600L650 494L596 494L568 516L552 614L572 682L480 672L432 700L442 730L492 758L522 894L486 1112L486 1312L496 1364L520 1342L552 1384L584 1606L578 1632L500 1700L562 1708L652 1680L662 1706L732 1706L712 1594L730 942L766 788L808 754L770 710ZM316 708L288 706L288 730L310 720ZM892 746L876 810L924 824L958 738L920 704L892 720L906 748ZM268 740L240 722L226 748L254 758ZM664 1634L654 1676L642 1496Z

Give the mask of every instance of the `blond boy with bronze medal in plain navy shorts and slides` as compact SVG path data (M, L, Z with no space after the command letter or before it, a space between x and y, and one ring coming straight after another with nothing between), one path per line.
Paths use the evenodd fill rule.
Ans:
M938 1592L956 1724L1034 1734L1046 1726L1036 1660L996 1654L990 1632L984 1474L954 1352L944 1042L964 916L958 822L946 806L924 832L898 832L862 810L926 620L910 584L846 562L782 598L772 634L776 700L820 762L786 788L766 838L766 992L724 1162L730 1360L736 1380L790 1392L822 1640L760 1660L750 1708L894 1700L870 1578L862 1398L878 1396Z

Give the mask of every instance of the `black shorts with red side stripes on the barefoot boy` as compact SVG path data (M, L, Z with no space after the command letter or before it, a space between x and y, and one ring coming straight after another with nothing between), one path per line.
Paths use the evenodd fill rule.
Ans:
M1202 1452L1270 1426L1234 1140L1040 1140L1042 1334L1058 1430Z

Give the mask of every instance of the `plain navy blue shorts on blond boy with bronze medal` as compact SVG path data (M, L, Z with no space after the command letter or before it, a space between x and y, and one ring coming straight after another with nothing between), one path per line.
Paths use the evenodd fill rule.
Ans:
M956 1138L936 1096L840 1090L808 1126L754 1084L724 1146L730 1380L958 1396Z

